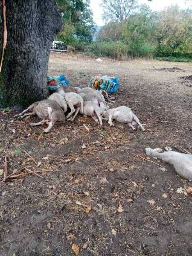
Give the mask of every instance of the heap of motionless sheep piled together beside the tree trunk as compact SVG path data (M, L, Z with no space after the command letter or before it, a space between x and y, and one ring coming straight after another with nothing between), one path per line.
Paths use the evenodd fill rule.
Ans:
M64 113L67 112L68 108L70 112L65 117ZM29 110L32 113L26 113ZM94 90L90 87L81 89L79 87L63 85L49 96L48 99L33 103L29 108L16 116L20 118L34 115L39 116L42 119L41 122L31 123L30 125L32 126L48 124L50 121L48 128L44 130L47 133L55 122L64 123L65 119L73 121L78 113L84 116L91 116L95 122L99 120L100 125L102 125L102 119L108 120L110 126L114 125L112 119L115 119L117 122L128 123L133 130L135 130L135 126L138 124L141 130L145 131L143 125L130 108L120 106L108 109L102 91Z

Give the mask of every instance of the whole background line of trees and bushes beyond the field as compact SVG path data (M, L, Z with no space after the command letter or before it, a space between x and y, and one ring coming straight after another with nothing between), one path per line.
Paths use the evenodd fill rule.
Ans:
M64 27L58 38L90 55L123 58L192 58L192 10L177 5L153 12L137 0L103 0L102 26L96 27L89 0L57 0Z

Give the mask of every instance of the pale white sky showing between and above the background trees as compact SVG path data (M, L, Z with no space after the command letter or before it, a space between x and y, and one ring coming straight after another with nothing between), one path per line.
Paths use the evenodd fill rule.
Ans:
M90 8L93 11L93 19L98 26L104 25L104 22L102 21L102 8L99 6L101 3L102 0L90 0ZM152 2L148 2L147 0L138 0L138 3L148 4L153 11L162 10L166 6L170 6L172 4L177 4L183 9L189 7L189 3L185 4L185 0L152 0Z

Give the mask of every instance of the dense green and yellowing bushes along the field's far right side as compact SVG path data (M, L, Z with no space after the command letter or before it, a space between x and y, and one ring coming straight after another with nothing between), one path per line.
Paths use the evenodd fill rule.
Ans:
M122 55L192 58L192 11L176 5L153 12L149 6L141 5L125 21L111 21L103 26L96 42L87 50L112 58Z

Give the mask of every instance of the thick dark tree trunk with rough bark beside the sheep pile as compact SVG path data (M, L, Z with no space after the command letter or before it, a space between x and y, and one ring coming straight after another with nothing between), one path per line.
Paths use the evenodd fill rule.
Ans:
M55 0L3 1L7 43L0 73L0 108L9 106L21 110L48 96L49 53L62 19ZM0 20L1 55L2 22L3 15Z

